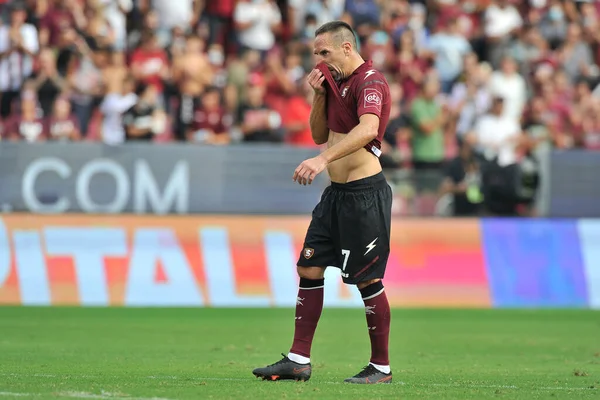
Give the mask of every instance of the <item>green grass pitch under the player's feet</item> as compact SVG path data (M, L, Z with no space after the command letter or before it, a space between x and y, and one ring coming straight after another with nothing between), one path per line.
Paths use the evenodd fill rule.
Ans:
M325 309L309 382L251 370L287 352L292 309L0 307L0 400L600 399L600 313L392 310L392 385L341 383L364 311Z

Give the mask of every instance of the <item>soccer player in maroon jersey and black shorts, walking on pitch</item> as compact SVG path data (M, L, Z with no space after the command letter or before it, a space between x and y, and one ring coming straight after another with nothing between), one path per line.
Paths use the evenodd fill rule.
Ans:
M337 266L344 283L358 286L371 339L369 364L345 382L391 383L390 307L382 278L390 251L392 192L378 160L390 115L389 86L360 56L345 22L321 26L314 52L322 62L307 77L315 91L310 128L315 143L327 143L327 150L302 162L293 180L310 184L327 168L331 185L313 211L297 264L300 287L292 348L282 360L253 374L268 380L310 378L324 272Z

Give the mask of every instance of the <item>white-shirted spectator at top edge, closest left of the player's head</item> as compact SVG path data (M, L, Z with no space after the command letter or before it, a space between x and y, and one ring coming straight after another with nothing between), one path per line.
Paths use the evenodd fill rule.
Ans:
M281 12L273 0L241 0L233 16L238 40L246 49L265 53L275 45Z

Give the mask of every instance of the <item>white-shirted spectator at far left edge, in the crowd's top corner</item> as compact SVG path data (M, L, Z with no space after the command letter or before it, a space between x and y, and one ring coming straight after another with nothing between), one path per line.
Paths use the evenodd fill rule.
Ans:
M24 5L15 3L10 25L0 26L0 116L3 118L11 114L13 102L33 72L33 57L39 50L37 29L26 24L26 18Z

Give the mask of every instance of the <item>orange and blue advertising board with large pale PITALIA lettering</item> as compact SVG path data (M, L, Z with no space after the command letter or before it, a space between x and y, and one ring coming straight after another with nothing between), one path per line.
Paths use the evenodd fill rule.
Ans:
M0 304L291 307L307 217L0 217ZM399 219L396 307L600 308L600 221ZM325 304L361 307L326 273Z

